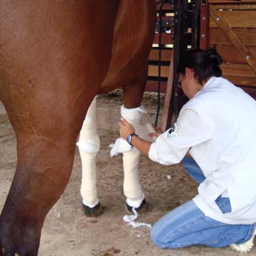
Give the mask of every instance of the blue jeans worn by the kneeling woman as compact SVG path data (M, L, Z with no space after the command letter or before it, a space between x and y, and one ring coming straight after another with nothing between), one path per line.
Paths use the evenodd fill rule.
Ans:
M188 174L198 183L205 177L196 162L188 158L182 164ZM231 210L229 198L216 199L223 213ZM151 229L153 242L161 248L178 248L191 245L225 247L232 243L249 240L255 230L252 225L229 225L206 216L193 201L188 201L164 215Z

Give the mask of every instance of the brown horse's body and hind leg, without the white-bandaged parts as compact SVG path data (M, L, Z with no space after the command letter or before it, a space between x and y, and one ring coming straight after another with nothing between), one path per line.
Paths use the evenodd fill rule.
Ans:
M139 107L154 38L154 0L0 1L0 100L17 138L0 217L0 255L37 255L96 94L117 87Z

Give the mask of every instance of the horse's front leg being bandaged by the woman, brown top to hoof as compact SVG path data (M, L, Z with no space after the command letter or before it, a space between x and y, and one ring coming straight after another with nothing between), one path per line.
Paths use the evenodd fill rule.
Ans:
M122 86L124 107L121 114L134 124L139 135L146 132L146 129L141 125L143 121L140 118L142 117L140 105L146 85L148 58L154 39L155 20L154 0L120 1L114 27L114 46L110 68L102 87L102 92L104 92L109 88ZM127 117L124 112L129 112L131 118ZM147 134L148 132L146 132ZM148 137L148 139L150 138ZM129 210L132 207L139 210L148 209L139 183L139 156L140 153L136 149L125 152L123 156L124 194L127 196L127 208Z

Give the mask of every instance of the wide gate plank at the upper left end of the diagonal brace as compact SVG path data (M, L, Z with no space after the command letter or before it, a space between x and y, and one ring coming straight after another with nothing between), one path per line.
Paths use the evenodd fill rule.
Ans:
M230 28L256 28L256 11L217 11L216 16L222 16ZM215 19L210 18L210 27L217 26Z

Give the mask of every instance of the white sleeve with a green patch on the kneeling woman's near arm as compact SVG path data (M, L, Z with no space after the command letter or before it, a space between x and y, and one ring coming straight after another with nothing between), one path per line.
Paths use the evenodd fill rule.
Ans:
M198 112L185 108L174 126L151 144L149 159L164 165L178 164L191 147L212 138L212 129Z

